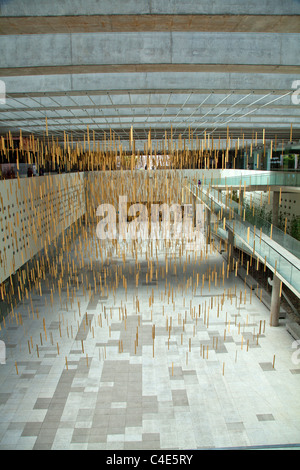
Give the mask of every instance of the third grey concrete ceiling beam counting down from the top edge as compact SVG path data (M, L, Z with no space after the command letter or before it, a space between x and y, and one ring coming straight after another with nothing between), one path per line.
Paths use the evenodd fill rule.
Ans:
M12 46L12 45L11 45ZM12 50L12 49L11 49ZM13 51L12 51L13 53ZM1 62L0 62L1 63ZM6 93L15 98L43 97L43 96L83 96L83 95L111 95L117 94L186 94L197 95L227 95L231 93L253 95L284 95L292 93L292 84L299 80L299 75L267 74L259 73L225 73L224 68L220 73L189 74L180 72L154 73L110 73L80 75L34 75L23 77L8 77L3 75L2 80L6 84ZM270 97L274 99L276 96ZM199 97L204 100L205 96ZM165 103L169 96L165 97ZM284 97L283 100L286 100ZM292 104L291 97L289 98ZM220 100L219 100L220 101ZM201 103L201 101L200 101ZM200 104L199 103L199 104ZM280 101L276 102L281 103ZM295 105L293 105L295 106Z

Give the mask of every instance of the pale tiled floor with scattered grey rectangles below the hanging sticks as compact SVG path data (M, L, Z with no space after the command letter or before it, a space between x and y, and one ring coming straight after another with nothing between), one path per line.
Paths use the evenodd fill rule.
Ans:
M200 261L187 252L180 259L162 245L151 258L144 244L136 287L134 252L127 250L124 266L121 251L119 257L107 251L103 268L89 248L80 266L76 246L65 263L76 261L79 288L70 278L68 289L52 296L44 282L43 297L32 294L1 324L7 353L0 365L1 450L300 442L293 340L284 322L269 327L269 312L254 293L250 303L250 290L235 273L225 275L224 285L220 275L210 286L206 279L202 288L208 268L222 272L220 254Z

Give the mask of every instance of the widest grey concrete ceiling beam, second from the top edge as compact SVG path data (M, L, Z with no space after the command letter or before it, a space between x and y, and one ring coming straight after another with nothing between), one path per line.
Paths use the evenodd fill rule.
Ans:
M297 34L86 33L2 36L1 76L300 72Z

